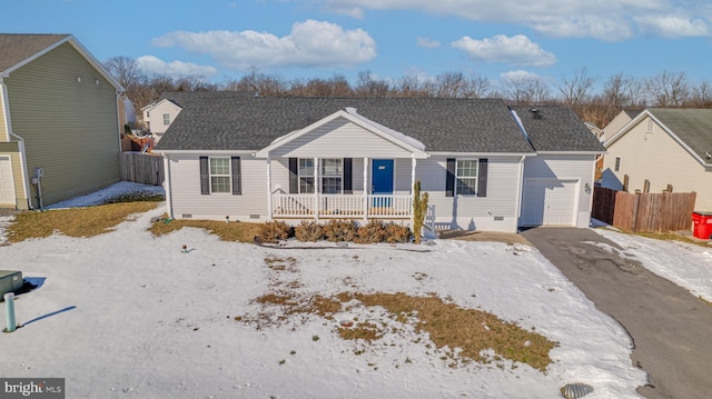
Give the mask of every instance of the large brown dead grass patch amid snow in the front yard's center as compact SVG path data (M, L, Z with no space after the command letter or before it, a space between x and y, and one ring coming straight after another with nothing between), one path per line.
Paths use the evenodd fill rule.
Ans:
M291 263L288 267L296 268L296 260L290 261L289 258L281 259L274 256L265 258L265 265L271 269L273 273L284 273L285 270L276 266L285 263ZM335 315L349 309L354 302L360 302L368 308L379 307L390 313L397 322L412 323L418 332L427 335L431 343L425 346L428 348L435 346L445 351L446 355L442 359L448 361L451 367L472 360L487 363L493 360L508 359L545 372L552 362L548 353L557 346L557 342L550 341L533 330L526 330L514 322L503 321L486 311L458 307L434 293L429 297L414 297L403 292L338 292L333 297L325 297L283 288L263 295L254 302L263 305L263 310L257 315L238 316L235 319L251 323L257 329L294 322L289 317L295 315L314 315L334 321ZM306 319L301 318L300 321L304 323ZM337 321L336 333L346 340L363 340L370 343L386 335L403 332L395 327L388 329L387 323L378 326L372 321L358 321L352 326L352 320L344 320L347 325L342 325L342 320ZM494 357L487 355L492 351L495 353Z

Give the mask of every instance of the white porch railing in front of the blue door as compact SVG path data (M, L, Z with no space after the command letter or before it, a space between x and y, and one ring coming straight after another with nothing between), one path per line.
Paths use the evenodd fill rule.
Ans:
M271 198L271 215L280 218L408 219L411 194L283 194Z

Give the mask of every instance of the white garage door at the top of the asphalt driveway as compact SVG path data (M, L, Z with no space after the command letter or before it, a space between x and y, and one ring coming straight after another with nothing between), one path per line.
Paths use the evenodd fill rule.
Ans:
M576 180L525 179L522 226L573 226Z

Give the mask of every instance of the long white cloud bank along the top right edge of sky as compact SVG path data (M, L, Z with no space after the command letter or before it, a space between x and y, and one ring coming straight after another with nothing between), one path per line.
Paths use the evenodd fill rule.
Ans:
M685 0L318 0L363 18L366 10L421 10L477 22L514 23L552 37L620 41L637 30L662 37L710 36L706 1ZM348 10L348 12L345 12ZM678 16L669 19L669 16ZM706 16L706 17L702 17ZM653 29L655 27L655 29Z

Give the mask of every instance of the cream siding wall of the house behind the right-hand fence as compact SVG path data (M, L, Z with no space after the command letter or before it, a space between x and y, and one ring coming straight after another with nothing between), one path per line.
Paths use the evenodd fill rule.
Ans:
M620 190L629 177L629 191L662 192L672 184L673 192L696 192L695 210L712 211L712 170L705 168L661 127L647 133L647 119L609 146L603 161L603 186ZM621 167L615 171L615 158Z

